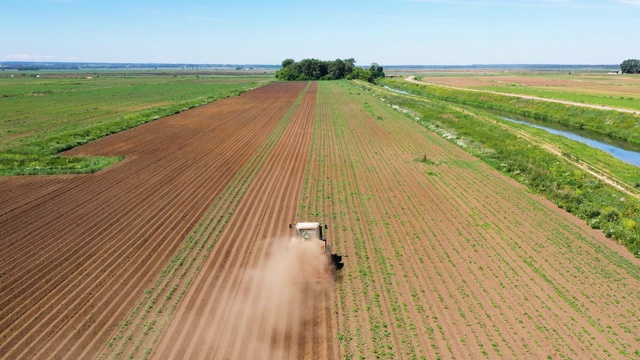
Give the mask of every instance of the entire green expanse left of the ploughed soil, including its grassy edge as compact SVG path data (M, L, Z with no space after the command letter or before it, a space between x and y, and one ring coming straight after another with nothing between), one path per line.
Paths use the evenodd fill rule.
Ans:
M137 72L0 77L0 175L97 171L118 159L58 154L264 81Z

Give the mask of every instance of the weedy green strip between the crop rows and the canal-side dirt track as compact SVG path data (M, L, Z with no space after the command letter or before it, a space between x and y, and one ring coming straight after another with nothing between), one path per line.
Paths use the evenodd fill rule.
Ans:
M365 87L365 89L371 90ZM640 201L603 183L567 160L487 121L486 116L437 101L387 93L391 104L495 169L543 194L640 257ZM416 117L417 115L417 117Z

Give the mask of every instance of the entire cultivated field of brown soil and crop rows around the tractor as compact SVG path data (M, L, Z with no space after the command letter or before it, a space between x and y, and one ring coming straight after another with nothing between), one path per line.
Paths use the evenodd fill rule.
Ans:
M0 178L1 358L640 357L640 260L352 83L65 155L125 160ZM304 220L335 283L290 277Z

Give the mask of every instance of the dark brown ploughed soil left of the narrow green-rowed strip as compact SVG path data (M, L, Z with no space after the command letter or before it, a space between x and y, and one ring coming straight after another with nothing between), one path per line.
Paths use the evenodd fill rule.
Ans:
M90 358L304 84L277 84L69 155L133 158L86 176L0 179L0 358Z

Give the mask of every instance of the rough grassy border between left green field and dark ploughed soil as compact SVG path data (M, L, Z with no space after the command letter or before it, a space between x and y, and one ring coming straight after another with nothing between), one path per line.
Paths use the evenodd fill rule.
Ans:
M248 83L237 89L124 114L114 120L106 120L80 129L64 132L53 131L51 135L45 134L40 139L28 141L0 152L0 176L96 172L122 160L123 157L66 157L60 156L59 153L165 116L174 115L229 96L240 95L255 86L256 83Z

